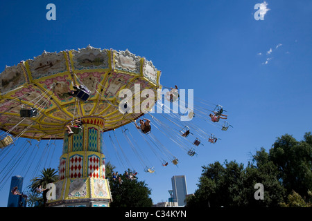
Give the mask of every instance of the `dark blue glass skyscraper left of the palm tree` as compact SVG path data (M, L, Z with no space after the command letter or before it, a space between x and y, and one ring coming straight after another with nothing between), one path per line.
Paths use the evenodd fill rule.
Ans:
M24 206L25 200L24 198L21 197L21 195L13 195L11 193L11 190L17 186L17 189L19 192L23 189L23 180L24 178L21 177L20 175L15 175L11 179L11 185L10 185L10 193L8 197L8 207L21 207Z

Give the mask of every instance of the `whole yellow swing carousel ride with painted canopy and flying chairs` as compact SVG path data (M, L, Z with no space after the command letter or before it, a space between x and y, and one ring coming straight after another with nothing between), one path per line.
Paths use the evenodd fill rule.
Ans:
M153 152L160 166L178 164L176 155L155 131L193 157L196 146L220 140L193 119L222 131L231 126L223 121L227 115L222 106L194 97L190 108L177 87L159 83L160 75L151 61L128 50L92 46L44 51L17 66L6 66L0 74L0 162L9 151L19 148L17 140L24 139L24 146L32 151L33 141L37 140L38 146L44 140L49 144L63 140L59 180L54 183L55 197L49 205L109 206L112 196L105 177L106 148L125 157L123 149L130 147L143 170L154 173L140 145ZM183 108L174 111L177 106ZM144 124L146 120L149 125ZM117 130L123 137L116 136ZM135 133L139 133L140 142ZM121 139L128 145L121 145ZM126 158L119 160L130 164ZM12 174L10 163L1 166L1 182Z

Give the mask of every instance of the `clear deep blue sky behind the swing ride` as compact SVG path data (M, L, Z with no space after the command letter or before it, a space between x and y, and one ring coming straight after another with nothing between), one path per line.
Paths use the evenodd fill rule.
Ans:
M56 21L46 20L48 3L56 6ZM128 49L162 70L164 86L193 89L196 97L223 105L234 128L220 131L194 118L194 124L222 140L198 146L194 157L168 142L180 160L177 166L162 167L146 150L156 173L144 173L129 153L139 180L152 189L153 202L166 201L173 175L186 175L193 193L201 166L224 160L246 165L250 153L261 146L268 150L277 137L288 133L302 140L311 131L312 2L268 0L270 10L263 20L254 19L257 3L263 1L1 1L0 69L44 50L77 50L89 44ZM120 142L127 150L124 139ZM45 155L45 166L51 161L51 167L58 167L62 142L57 144L53 155ZM112 164L123 172L107 146ZM22 167L12 175L22 175ZM10 180L0 190L0 206L7 205L9 185Z

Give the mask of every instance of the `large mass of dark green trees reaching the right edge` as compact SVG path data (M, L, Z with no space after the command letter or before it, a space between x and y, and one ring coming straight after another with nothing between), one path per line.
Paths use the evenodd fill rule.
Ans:
M300 142L286 134L277 138L269 153L264 148L257 151L245 169L227 160L202 166L198 189L187 198L187 206L311 206L311 164L311 133ZM254 198L257 183L264 186L263 200Z

